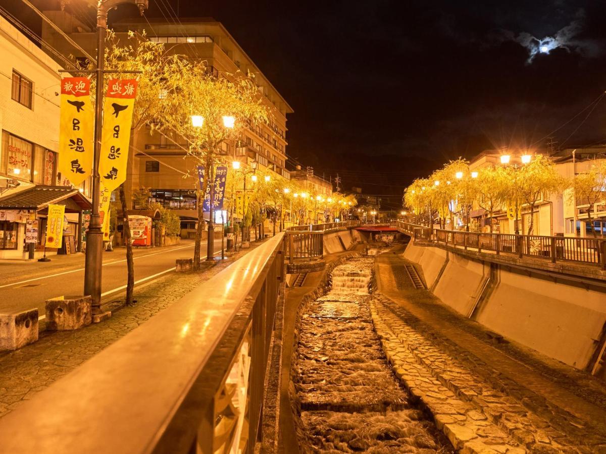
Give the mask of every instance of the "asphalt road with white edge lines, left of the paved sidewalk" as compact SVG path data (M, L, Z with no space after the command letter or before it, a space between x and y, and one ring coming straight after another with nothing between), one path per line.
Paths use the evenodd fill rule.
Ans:
M175 270L177 258L191 257L193 255L193 241L182 242L181 245L169 246L161 249L143 249L135 251L135 286L168 272ZM127 283L126 259L121 252L125 249L116 249L115 252L105 253L102 271L102 299L111 298L124 291ZM206 257L206 242L202 243L203 258ZM215 252L221 254L221 240L215 240ZM62 295L81 295L84 285L84 255L63 259L57 257L53 268L40 271L38 262L22 264L16 262L3 266L4 272L0 278L0 312L15 312L25 309L38 308L40 318L44 319L45 301ZM52 262L50 262L52 263ZM3 264L6 265L6 264ZM22 271L25 268L25 272ZM21 276L18 281L15 273L9 280L7 268L14 269Z

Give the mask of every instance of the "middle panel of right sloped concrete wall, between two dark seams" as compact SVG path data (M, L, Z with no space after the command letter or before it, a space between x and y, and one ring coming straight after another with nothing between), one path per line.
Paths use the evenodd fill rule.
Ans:
M470 314L478 300L490 265L457 254L448 254L448 263L434 290L436 297L462 315Z

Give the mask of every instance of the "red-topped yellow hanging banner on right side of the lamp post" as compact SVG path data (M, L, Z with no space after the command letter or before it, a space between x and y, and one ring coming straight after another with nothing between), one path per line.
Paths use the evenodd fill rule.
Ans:
M136 93L135 79L110 79L105 93L99 174L110 192L126 180Z

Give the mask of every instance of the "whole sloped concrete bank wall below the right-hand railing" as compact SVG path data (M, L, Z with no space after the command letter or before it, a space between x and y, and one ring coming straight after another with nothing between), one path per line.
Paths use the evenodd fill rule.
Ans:
M606 287L414 242L402 256L417 263L428 289L460 314L577 369L595 363L606 331Z

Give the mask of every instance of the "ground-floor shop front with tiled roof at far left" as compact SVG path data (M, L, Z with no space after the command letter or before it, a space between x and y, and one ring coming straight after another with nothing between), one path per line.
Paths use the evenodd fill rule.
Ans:
M82 211L92 203L78 189L35 186L0 198L0 258L38 258L44 252L48 205L64 205L64 246L47 255L82 250Z

